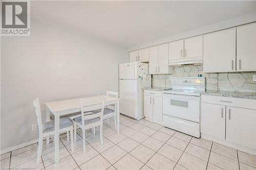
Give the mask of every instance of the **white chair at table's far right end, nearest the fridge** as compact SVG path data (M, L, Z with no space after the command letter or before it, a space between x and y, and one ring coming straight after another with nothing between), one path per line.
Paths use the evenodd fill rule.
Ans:
M115 91L106 91L106 96L113 96L114 98L118 97L118 92ZM110 107L112 107L113 109L110 109ZM100 110L94 110L92 111L93 113L97 113L100 112ZM109 105L106 106L106 108L104 108L104 113L103 113L103 120L108 119L108 125L109 123L109 118L114 117L115 118L115 128L116 128L116 104L113 105Z

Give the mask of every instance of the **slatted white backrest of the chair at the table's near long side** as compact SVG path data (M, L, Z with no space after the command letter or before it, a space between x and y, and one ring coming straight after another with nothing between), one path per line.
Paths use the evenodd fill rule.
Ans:
M96 97L96 98L82 98L80 100L81 106L81 118L82 126L84 126L84 120L99 117L100 121L103 121L103 112L105 105L106 96ZM101 109L98 113L88 113L88 111Z

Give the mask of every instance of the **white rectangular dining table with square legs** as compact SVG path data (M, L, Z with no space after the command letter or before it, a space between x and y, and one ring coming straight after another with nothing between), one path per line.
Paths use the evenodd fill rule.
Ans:
M87 98L97 98L104 95L89 96ZM50 112L55 116L55 164L59 163L59 117L61 115L66 115L70 113L75 113L81 111L80 107L81 98L70 99L57 102L46 103L46 121L50 121ZM117 132L119 133L119 98L113 98L106 96L105 105L116 104L116 123L117 123ZM49 137L47 137L47 144L49 144Z

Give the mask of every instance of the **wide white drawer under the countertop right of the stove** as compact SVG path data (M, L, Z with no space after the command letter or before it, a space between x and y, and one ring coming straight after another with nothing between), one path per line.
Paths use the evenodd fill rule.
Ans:
M252 99L201 95L201 102L256 110L256 100Z

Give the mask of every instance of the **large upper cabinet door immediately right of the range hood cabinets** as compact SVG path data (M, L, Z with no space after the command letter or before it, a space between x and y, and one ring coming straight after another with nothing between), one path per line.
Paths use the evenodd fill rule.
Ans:
M203 36L203 71L236 71L236 29Z

